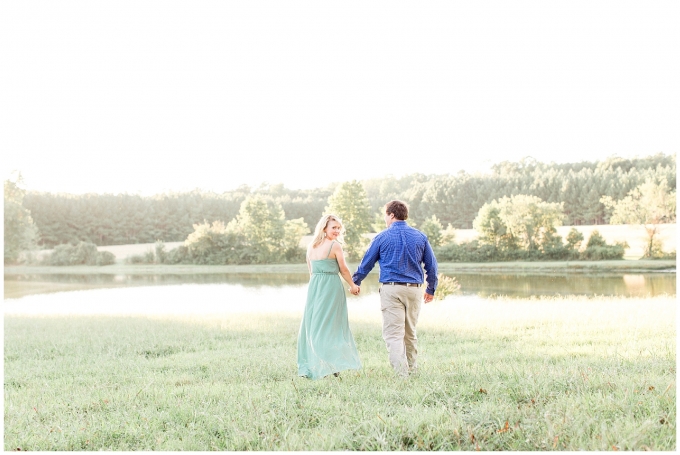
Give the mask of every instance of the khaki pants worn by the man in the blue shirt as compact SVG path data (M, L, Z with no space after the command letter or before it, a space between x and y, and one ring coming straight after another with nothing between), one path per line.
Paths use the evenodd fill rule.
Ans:
M390 364L399 376L417 368L418 338L416 324L423 302L422 287L382 285L380 309L383 314L383 340Z

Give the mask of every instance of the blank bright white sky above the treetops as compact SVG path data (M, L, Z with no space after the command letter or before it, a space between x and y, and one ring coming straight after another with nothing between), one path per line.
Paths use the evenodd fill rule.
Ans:
M14 1L3 178L154 194L677 153L680 2Z

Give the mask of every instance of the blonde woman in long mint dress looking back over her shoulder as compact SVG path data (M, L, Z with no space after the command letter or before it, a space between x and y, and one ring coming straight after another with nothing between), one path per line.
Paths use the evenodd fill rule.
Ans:
M307 304L298 334L298 375L321 379L343 370L361 368L359 353L347 320L347 299L338 273L359 294L349 273L338 238L342 223L334 215L319 220L307 248L310 279Z

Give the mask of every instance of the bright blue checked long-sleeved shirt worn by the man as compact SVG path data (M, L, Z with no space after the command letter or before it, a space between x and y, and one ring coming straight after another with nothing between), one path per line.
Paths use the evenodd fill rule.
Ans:
M373 238L368 251L352 276L357 286L380 262L381 283L422 283L423 264L427 272L427 292L437 289L437 259L427 236L412 228L406 221L395 221Z

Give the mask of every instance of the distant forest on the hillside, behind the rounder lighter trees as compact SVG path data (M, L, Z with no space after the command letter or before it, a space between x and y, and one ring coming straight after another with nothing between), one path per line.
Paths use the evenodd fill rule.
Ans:
M675 161L675 155L664 154L567 164L525 158L496 164L488 174L411 174L361 183L372 218L385 202L401 199L409 203L415 225L434 215L444 226L469 229L484 204L523 194L562 203L565 225L607 224L610 214L601 202L603 196L623 199L650 179L665 180L675 188ZM254 195L279 204L286 219L302 218L313 227L338 185L311 190L294 190L281 184L242 186L222 194L195 190L151 197L29 191L23 206L38 229L39 245L45 248L79 241L95 245L177 242L185 240L196 223L235 219L243 201Z

